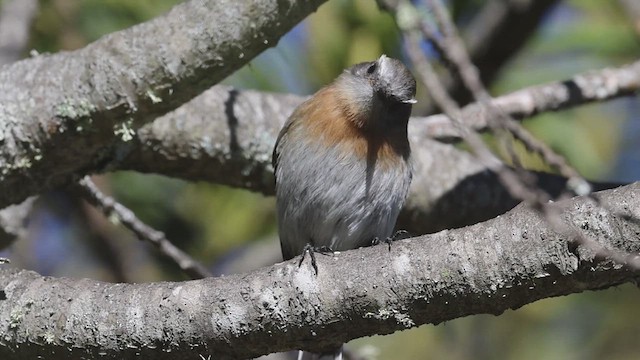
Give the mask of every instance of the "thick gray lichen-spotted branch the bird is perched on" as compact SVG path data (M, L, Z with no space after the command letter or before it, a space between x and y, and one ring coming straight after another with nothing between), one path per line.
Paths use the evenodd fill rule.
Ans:
M556 204L609 249L640 251L640 184ZM605 210L606 209L606 210ZM519 206L471 227L249 274L106 284L0 271L0 356L247 358L388 334L637 281ZM348 325L348 326L347 326ZM67 344L73 343L74 346ZM160 350L160 351L159 351Z

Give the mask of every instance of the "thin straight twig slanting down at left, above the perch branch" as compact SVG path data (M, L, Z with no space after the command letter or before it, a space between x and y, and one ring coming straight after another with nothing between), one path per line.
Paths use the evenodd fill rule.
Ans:
M107 217L117 216L119 222L131 230L138 239L151 243L163 255L173 260L192 279L212 276L207 268L173 245L162 232L145 224L136 217L133 211L112 197L103 194L88 176L80 180L75 188L90 204L100 209Z

